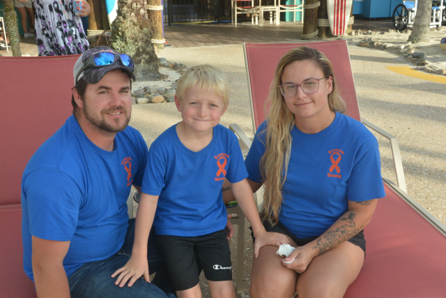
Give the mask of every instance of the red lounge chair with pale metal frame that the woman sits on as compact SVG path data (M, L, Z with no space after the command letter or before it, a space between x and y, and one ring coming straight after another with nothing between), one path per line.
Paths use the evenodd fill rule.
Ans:
M407 195L397 139L360 118L346 40L245 44L254 131L265 119L264 103L279 59L299 45L314 47L332 61L348 105L345 114L390 140L397 172L398 186L383 179L386 197L379 200L364 231L364 267L345 297L446 297L446 228ZM240 127L231 124L230 128L249 148L251 140Z

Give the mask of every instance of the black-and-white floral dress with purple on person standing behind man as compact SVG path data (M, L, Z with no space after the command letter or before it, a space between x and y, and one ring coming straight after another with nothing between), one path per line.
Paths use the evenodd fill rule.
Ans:
M82 54L89 50L74 0L33 0L39 56ZM65 9L63 9L65 8Z

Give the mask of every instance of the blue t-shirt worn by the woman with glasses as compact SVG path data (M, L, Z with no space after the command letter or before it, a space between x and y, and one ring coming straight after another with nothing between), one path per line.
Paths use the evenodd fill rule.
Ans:
M259 126L245 165L261 182L266 122ZM306 134L294 126L291 157L282 188L279 221L296 237L323 234L348 210L348 201L385 196L378 142L359 121L336 113L328 128Z

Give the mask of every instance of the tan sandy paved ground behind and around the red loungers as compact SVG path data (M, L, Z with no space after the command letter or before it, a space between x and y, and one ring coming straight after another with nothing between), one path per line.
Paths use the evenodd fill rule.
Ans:
M438 47L446 31L431 34L430 43L414 45L426 54L431 65L446 68L446 51ZM355 79L357 98L362 117L385 129L399 139L408 194L429 210L433 216L446 224L446 86L428 80L393 73L385 66L409 66L400 54L386 50L358 47L360 40L371 38L382 42L406 44L408 33L387 32L362 36L348 36L351 66ZM229 108L221 124L237 123L252 137L249 94L242 45L218 47L192 47L165 49L159 53L169 61L186 66L208 63L221 68L231 84ZM169 84L178 73L161 69L170 75L166 82L138 82L134 88ZM180 121L174 103L133 105L131 125L139 129L150 144L169 126ZM380 144L383 177L396 181L392 167L390 146L383 137L376 135ZM236 241L231 242L234 249ZM235 256L235 254L234 254ZM240 297L249 297L252 244L245 240L245 292ZM240 258L238 257L238 258ZM235 264L235 260L233 260ZM234 276L237 268L234 269ZM206 282L201 279L203 297L210 297Z

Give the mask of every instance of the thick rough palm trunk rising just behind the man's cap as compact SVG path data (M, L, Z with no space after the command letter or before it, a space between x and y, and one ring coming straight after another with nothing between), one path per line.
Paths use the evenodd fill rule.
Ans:
M112 48L133 57L137 80L161 77L152 36L146 0L118 0L117 17L112 24Z

